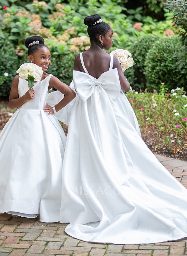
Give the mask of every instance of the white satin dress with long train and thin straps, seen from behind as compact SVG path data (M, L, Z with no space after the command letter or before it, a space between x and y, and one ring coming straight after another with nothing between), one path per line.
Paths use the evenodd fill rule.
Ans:
M80 57L85 73L73 73L77 96L62 174L60 223L70 223L65 232L113 244L186 237L187 190L146 146L129 110L121 109L113 56L98 79L89 75Z

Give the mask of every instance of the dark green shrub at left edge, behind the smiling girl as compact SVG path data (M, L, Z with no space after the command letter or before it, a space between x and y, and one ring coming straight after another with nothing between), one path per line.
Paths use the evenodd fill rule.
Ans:
M12 43L2 32L0 32L0 56L0 96L8 96L12 79L19 68L19 61ZM8 73L8 76L4 76L4 73Z

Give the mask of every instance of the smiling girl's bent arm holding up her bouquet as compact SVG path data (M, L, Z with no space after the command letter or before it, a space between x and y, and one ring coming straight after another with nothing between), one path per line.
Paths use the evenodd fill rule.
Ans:
M18 98L18 83L19 83L19 75L15 76L12 80L12 86L9 96L9 107L11 109L18 108L22 106L26 101L29 101L35 97L35 89L30 89L26 92L25 95Z

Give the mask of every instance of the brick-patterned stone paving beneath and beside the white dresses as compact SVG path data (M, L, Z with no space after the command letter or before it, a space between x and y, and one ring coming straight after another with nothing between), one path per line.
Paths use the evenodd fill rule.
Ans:
M187 162L156 155L166 169L187 188ZM187 238L156 244L96 244L74 239L67 224L43 223L0 214L0 256L182 256Z

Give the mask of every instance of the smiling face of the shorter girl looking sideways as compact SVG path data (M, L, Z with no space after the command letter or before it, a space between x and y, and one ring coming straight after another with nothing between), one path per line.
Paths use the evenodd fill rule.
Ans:
M47 47L41 47L34 52L32 55L29 55L29 60L32 61L34 64L40 66L43 72L46 72L51 61L51 54L50 50Z

